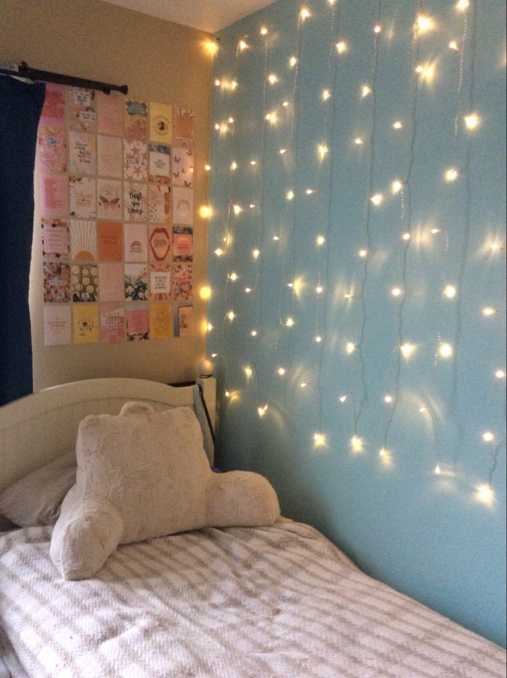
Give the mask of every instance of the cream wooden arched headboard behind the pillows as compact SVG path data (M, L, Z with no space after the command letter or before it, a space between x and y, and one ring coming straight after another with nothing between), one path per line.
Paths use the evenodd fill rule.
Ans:
M198 383L214 424L216 382L208 378ZM0 407L0 492L73 450L85 416L118 414L129 400L149 402L158 410L193 408L194 391L191 386L176 388L143 379L90 379L44 389Z

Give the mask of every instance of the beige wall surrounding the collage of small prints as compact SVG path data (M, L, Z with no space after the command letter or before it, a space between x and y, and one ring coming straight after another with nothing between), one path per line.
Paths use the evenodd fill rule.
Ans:
M195 205L207 203L211 57L207 34L99 0L0 0L0 61L129 85L146 101L181 105L196 113ZM207 224L194 223L196 336L147 342L45 347L39 229L34 238L30 305L34 390L68 381L126 376L157 381L193 379L205 353L200 331L205 306Z

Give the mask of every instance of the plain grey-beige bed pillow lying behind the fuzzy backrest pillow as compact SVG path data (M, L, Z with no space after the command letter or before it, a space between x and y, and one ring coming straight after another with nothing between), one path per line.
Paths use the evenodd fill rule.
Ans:
M69 452L0 493L0 513L20 527L54 525L75 482L76 455Z

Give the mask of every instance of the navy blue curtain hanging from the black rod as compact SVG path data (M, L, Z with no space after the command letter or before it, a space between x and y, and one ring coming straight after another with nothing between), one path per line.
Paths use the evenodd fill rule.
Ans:
M0 405L32 393L28 285L45 84L0 75Z

